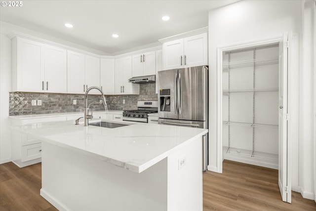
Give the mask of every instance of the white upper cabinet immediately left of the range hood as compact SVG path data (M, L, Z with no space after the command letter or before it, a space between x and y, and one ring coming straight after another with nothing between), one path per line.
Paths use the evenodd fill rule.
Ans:
M132 56L115 59L115 94L139 94L139 84L129 83Z

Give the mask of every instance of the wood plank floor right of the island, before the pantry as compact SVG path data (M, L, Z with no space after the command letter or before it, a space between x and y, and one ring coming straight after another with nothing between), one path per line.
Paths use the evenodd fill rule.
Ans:
M313 200L292 191L282 202L277 170L225 160L223 173L203 173L203 211L316 211Z

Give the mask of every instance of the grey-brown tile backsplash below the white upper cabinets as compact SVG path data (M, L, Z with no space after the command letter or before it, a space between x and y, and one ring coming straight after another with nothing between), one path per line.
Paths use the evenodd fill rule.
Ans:
M83 112L84 94L10 92L9 115L53 114ZM109 110L137 109L139 100L158 100L156 84L140 84L139 95L105 95ZM99 102L100 95L89 95L88 103ZM32 106L32 100L41 100L41 106ZM77 105L74 105L77 100ZM123 104L125 100L125 104ZM94 111L104 110L103 105L90 106Z

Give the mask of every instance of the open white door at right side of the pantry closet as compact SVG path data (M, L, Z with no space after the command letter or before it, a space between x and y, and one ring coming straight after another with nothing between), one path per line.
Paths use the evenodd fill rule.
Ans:
M284 33L279 42L279 94L278 94L278 186L282 201L291 203L291 181L288 179L287 168L287 70L288 46L291 39Z

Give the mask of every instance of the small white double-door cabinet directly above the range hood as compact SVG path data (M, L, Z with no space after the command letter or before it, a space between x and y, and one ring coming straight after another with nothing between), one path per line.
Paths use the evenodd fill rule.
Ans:
M156 52L150 51L132 56L132 77L156 74Z

